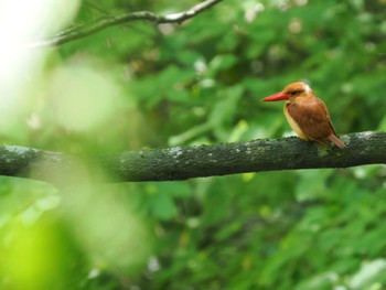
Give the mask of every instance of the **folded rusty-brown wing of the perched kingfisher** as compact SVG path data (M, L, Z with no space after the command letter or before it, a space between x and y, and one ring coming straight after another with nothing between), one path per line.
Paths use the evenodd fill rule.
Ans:
M314 140L328 142L326 138L330 135L336 135L328 108L317 97L288 104L288 112L303 133Z

